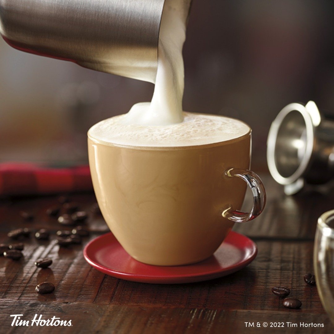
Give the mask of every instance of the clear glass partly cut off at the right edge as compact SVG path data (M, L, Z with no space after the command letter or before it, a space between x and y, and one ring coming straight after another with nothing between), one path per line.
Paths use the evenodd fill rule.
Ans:
M318 219L313 261L318 293L334 325L334 210Z

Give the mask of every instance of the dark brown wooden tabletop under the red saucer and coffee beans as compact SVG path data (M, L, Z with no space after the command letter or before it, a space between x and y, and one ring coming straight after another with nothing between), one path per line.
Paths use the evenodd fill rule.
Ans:
M25 242L24 259L0 257L0 333L333 333L317 288L307 286L303 276L313 273L313 239L318 216L334 207L334 189L304 191L287 197L281 186L262 175L268 201L264 213L253 222L235 225L234 230L251 237L258 245L257 258L248 267L219 279L175 285L153 285L119 280L93 269L82 255L83 245L59 248L55 235L50 241L34 237ZM88 209L95 202L90 194L73 194L73 201ZM9 242L13 228L59 229L45 214L57 196L2 199L1 242ZM246 198L245 207L250 205ZM20 210L35 215L24 221ZM91 214L90 239L108 231L99 215ZM50 269L34 266L38 258L53 259ZM56 286L49 295L35 292L36 284L50 281ZM286 309L272 292L273 286L288 286L291 297L302 301L300 310ZM13 317L31 320L53 316L71 320L71 327L15 327ZM253 323L246 327L245 323ZM263 323L269 324L268 328ZM270 328L270 323L284 328ZM298 324L288 327L288 322ZM257 324L261 327L257 327ZM301 327L320 323L322 328Z

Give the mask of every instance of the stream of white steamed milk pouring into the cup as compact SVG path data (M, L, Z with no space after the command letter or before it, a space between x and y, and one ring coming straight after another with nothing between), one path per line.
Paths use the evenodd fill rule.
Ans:
M182 46L190 0L166 0L160 26L158 67L150 104L135 104L123 122L169 125L183 121L184 65Z

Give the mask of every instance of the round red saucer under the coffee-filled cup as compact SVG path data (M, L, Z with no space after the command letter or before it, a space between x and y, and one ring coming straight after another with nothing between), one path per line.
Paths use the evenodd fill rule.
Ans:
M232 274L251 263L257 252L251 239L231 231L213 256L204 261L186 266L151 266L130 257L110 232L90 241L83 256L91 266L113 277L172 284L206 281Z

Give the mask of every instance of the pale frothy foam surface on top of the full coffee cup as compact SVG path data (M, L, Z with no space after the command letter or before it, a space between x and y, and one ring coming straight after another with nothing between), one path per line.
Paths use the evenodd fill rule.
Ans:
M124 118L115 116L95 124L89 137L106 145L180 147L228 141L251 131L241 121L197 113L184 112L182 123L165 126L124 124Z

